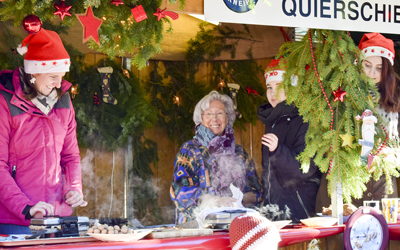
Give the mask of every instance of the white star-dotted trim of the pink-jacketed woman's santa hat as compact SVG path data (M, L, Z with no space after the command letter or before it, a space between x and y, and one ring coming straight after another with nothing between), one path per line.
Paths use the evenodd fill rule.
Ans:
M24 70L27 74L69 72L69 58L51 61L24 60Z

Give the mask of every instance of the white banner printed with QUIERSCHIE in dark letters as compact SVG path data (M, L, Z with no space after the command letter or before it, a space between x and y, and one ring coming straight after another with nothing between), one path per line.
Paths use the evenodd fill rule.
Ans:
M400 0L204 0L206 21L400 33Z

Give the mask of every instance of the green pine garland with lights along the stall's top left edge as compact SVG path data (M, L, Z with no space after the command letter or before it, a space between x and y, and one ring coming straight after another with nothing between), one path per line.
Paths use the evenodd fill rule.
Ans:
M183 9L185 0L169 0L170 3L179 1ZM60 1L53 0L7 0L0 2L1 21L14 20L14 25L21 25L22 20L30 14L38 16L42 22L59 18L54 16L54 4ZM66 0L65 5L71 5L71 17L66 16L61 26L72 26L77 18L75 14L85 13L91 6L93 14L103 19L99 29L100 46L92 39L88 42L91 49L107 54L110 58L117 55L131 55L132 65L139 69L146 66L146 62L156 53L161 53L160 43L163 40L164 23L169 24L168 31L172 31L169 19L157 21L153 13L161 5L162 0L125 0L123 5L112 5L109 0ZM135 22L131 9L142 5L147 19Z

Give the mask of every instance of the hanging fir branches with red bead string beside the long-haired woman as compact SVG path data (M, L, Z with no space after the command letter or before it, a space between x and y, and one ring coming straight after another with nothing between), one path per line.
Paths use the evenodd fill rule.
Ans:
M321 172L327 173L328 192L332 193L340 182L346 202L351 202L351 197L361 198L371 176L378 179L384 173L389 185L391 176L399 176L398 163L387 164L379 155L388 138L375 110L378 98L373 101L369 91L376 96L379 93L363 73L359 55L350 34L314 29L302 41L284 44L279 52L287 68L282 84L287 102L296 105L309 123L307 146L298 157L302 169L307 172L313 160ZM366 109L378 119L370 155L379 155L379 160L370 168L367 159L360 157L362 121L356 119Z

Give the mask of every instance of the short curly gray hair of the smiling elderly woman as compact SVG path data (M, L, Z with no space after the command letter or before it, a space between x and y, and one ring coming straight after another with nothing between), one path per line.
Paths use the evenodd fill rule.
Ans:
M210 108L210 102L214 100L218 100L222 102L222 104L224 104L226 116L228 118L228 125L233 127L233 123L236 119L236 113L233 108L233 101L229 96L220 94L215 90L211 91L196 104L193 113L193 121L196 126L203 122L202 114L204 111Z

